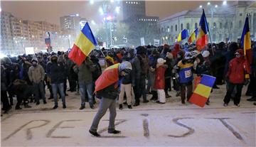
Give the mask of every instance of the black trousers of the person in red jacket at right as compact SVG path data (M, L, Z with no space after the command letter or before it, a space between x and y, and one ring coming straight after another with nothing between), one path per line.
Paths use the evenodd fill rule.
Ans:
M240 99L241 99L241 94L242 94L242 85L243 84L229 83L228 91L225 94L225 98L223 100L224 103L228 104L230 102L231 94L232 94L234 88L236 88L236 94L235 94L235 97L234 97L234 104L239 104L240 103Z

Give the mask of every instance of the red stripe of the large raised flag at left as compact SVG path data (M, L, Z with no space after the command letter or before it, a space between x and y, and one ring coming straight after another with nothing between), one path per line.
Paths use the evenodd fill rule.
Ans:
M82 50L80 50L77 45L74 44L72 50L68 54L68 58L80 66L85 60L86 55L82 53Z

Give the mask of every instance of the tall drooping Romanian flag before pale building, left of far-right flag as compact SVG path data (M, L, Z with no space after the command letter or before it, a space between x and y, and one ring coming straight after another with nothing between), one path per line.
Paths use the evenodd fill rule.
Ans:
M203 9L203 13L198 27L198 36L196 36L196 47L198 48L198 51L201 51L208 44L208 31L209 28L206 20L206 14L204 13Z

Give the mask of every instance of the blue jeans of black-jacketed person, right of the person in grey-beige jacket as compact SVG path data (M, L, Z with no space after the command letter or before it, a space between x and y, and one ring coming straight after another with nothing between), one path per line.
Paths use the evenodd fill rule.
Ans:
M65 104L64 83L60 83L60 84L53 84L52 83L51 86L52 86L52 89L53 89L54 105L58 106L58 99L57 99L58 90L60 92L60 97L61 97L63 105L64 105Z

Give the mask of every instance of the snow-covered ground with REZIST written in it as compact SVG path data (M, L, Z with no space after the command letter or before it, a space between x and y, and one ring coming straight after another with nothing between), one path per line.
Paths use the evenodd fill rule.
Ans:
M107 133L109 113L102 118L101 138L88 132L97 112L88 104L79 110L80 97L68 92L67 109L51 109L53 102L1 116L1 146L256 146L256 109L247 102L245 89L241 107L230 102L223 107L225 85L214 89L210 106L182 105L175 92L166 104L149 102L139 107L118 109L116 129ZM151 96L149 95L149 98Z

